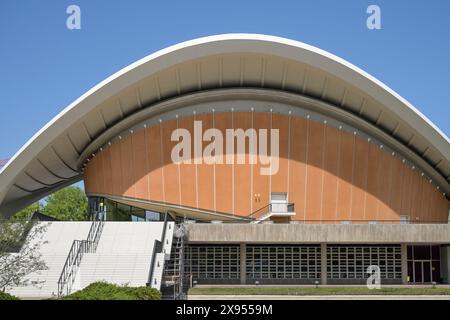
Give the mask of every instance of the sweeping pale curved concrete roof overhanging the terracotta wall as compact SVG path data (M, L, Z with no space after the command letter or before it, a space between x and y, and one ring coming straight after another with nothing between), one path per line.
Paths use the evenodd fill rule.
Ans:
M153 53L108 77L39 130L0 168L0 213L82 179L82 164L113 126L188 94L271 89L325 102L388 135L408 160L450 194L450 141L392 89L349 62L307 44L266 35L225 34ZM367 126L369 125L369 126ZM375 129L370 129L375 128ZM371 133L371 132L369 132Z

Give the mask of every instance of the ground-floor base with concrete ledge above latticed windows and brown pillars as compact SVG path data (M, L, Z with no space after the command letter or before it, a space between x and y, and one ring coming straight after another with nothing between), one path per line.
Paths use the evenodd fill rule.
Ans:
M239 259L225 267L239 267L228 280L214 272L208 275L211 271L198 271L200 277L206 275L197 280L203 284L361 285L374 275L369 272L373 267L379 267L382 285L450 283L447 224L193 223L187 226L187 242L210 249L211 255L217 252L214 246L234 246ZM425 256L423 249L428 250ZM219 258L226 264L236 257ZM211 264L205 270L216 270L212 260L193 261L195 266L201 263Z

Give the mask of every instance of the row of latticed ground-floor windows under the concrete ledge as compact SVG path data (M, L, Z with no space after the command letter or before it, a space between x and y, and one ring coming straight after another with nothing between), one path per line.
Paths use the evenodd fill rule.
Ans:
M365 279L371 265L380 267L382 279L401 279L400 246L327 247L328 279ZM176 274L178 267L172 250L166 274ZM184 268L194 279L239 279L239 245L189 245ZM252 279L320 279L320 246L247 245L245 272Z

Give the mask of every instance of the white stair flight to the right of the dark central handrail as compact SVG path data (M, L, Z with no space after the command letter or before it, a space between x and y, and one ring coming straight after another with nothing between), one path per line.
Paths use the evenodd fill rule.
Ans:
M110 222L103 229L97 251L86 253L80 265L76 291L95 281L145 286L148 282L155 239L163 233L162 222ZM168 222L166 242L172 244L173 222ZM170 247L166 250L169 250ZM152 287L160 288L165 254L157 254Z

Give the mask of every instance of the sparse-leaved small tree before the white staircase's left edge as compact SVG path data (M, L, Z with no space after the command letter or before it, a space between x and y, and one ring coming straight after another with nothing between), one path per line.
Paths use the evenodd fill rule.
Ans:
M0 290L30 285L27 276L45 270L39 250L45 223L0 220Z

